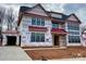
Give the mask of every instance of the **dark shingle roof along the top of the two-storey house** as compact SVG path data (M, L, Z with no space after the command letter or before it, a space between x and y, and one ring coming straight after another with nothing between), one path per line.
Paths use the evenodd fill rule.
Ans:
M71 15L74 15L74 16L77 18L77 16L76 16L75 14L65 15L65 14L59 13L59 12L46 11L46 10L41 7L41 4L38 3L38 4L36 4L35 7L37 7L37 5L40 7L40 8L47 13L47 15L48 15L49 17L51 16L50 13L56 13L56 14L61 14L61 15L62 15L62 18L51 16L51 17L54 18L54 20L65 21L65 20L67 20ZM20 12L27 12L27 11L34 9L35 7L33 7L33 8L21 7L21 8L20 8ZM77 20L78 20L78 18L77 18ZM78 20L78 22L81 23L79 20Z

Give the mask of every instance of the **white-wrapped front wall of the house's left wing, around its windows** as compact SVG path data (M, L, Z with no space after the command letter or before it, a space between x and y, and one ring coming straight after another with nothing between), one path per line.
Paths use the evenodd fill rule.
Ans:
M47 27L48 28L48 31L42 31L45 33L45 42L30 42L30 34L32 31L29 31L28 29L28 26L32 26L32 17L27 17L27 16L24 16L22 18L22 23L20 25L20 33L21 33L21 36L22 36L22 39L21 39L21 46L35 46L35 47L38 47L38 46L52 46L52 36L51 36L51 21L50 20L45 20L45 26L44 27ZM35 31L37 33L37 31ZM41 33L41 31L39 31Z

